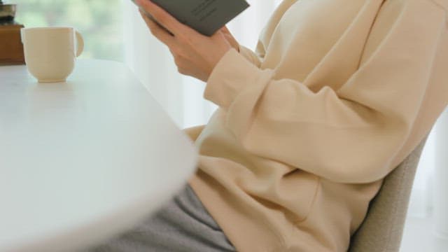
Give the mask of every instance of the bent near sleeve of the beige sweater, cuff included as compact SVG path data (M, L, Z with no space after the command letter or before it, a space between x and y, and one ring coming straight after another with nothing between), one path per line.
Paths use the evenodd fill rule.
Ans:
M232 49L211 73L204 97L227 112L225 126L255 155L339 183L377 181L398 165L393 160L447 32L443 18L412 31L404 30L410 24L391 27L337 90L323 85L312 92L300 81L276 79L273 69L260 69Z

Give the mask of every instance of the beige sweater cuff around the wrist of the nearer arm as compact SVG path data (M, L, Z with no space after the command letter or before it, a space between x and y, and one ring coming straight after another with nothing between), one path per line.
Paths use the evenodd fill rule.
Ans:
M211 72L204 98L222 108L228 108L244 88L255 84L259 72L257 66L232 48Z

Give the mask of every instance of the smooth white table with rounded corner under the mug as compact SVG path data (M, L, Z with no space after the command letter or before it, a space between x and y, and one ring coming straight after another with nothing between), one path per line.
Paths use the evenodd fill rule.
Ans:
M155 212L197 151L118 62L79 60L67 83L0 67L0 251L71 251Z

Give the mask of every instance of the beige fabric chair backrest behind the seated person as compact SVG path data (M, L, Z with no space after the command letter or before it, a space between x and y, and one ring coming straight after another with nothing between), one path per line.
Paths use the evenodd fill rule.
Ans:
M377 196L370 202L363 224L351 237L350 252L399 251L409 195L427 138L386 176Z

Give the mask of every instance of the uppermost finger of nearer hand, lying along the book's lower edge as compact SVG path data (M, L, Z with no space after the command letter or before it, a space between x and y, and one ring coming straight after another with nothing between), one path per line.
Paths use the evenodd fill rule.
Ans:
M176 20L172 15L167 13L166 10L160 8L157 4L153 3L150 0L137 0L137 4L144 8L146 12L153 16L155 20L157 20L160 25L167 28L174 35L179 33L185 33L188 28L186 25L183 25L181 22Z

